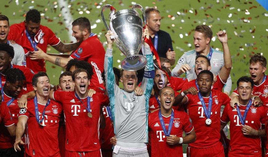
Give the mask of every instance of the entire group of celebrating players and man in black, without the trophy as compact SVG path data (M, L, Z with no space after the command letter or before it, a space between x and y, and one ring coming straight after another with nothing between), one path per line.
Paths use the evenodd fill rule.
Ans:
M40 25L38 10L12 26L0 15L0 157L177 157L182 144L188 157L265 156L266 58L251 57L251 76L240 77L229 97L226 32L216 33L221 52L210 46L210 27L196 26L195 49L171 71L175 52L160 12L147 8L146 17L147 64L136 72L113 67L113 32L105 34L105 52L87 18L72 22L77 42L64 44ZM48 45L72 54L47 54ZM66 68L59 85L50 84L45 60ZM227 145L221 131L229 122Z

